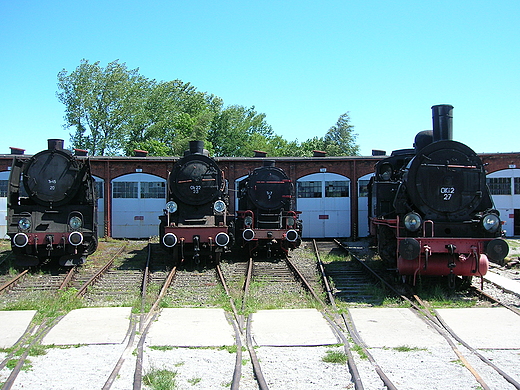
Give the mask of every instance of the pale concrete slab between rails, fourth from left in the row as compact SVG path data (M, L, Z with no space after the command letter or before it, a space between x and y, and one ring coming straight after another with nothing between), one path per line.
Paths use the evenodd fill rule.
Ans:
M316 309L260 310L253 314L251 334L260 346L316 346L340 342Z

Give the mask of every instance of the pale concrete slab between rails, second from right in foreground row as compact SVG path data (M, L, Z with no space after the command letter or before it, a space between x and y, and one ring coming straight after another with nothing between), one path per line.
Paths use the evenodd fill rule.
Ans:
M405 308L349 309L356 329L371 348L428 348L446 345L444 338Z

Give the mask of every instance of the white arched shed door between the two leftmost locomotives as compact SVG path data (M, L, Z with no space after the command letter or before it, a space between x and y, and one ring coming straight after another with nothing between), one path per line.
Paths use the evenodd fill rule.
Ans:
M131 173L112 180L112 237L159 235L159 215L166 204L166 180Z

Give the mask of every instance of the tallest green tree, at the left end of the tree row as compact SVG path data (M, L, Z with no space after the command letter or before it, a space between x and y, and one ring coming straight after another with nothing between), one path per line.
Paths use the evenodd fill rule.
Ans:
M75 128L74 147L92 155L117 154L125 146L129 121L139 112L151 82L117 60L102 68L83 59L70 74L58 73L58 99L65 104L65 127Z

